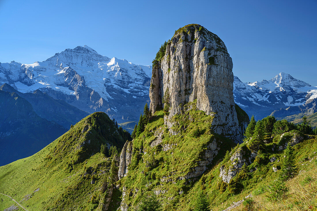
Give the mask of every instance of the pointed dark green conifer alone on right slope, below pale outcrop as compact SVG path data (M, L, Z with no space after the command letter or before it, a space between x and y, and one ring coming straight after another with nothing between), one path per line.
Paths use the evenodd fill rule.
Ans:
M280 176L283 180L288 180L292 178L297 171L293 148L290 144L287 144L287 147L284 150L284 156Z

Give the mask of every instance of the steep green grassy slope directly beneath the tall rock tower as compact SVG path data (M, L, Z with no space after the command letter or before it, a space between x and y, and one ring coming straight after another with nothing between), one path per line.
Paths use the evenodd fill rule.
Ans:
M216 142L218 150L206 172L222 160L227 150L236 146L230 139L210 131L213 117L198 111L195 101L191 104L191 110L175 115L171 120L171 130L176 135L164 125L161 110L155 113L145 131L133 140L132 163L127 176L119 181L126 189L124 202L131 210L137 208L142 195L151 191L159 195L164 210L185 210L187 205L184 203L188 197L195 197L190 194L191 189L200 178L199 174L191 176L191 173L199 168L199 161L206 161L207 146ZM248 116L241 116L244 113L238 114L239 120L249 120ZM151 146L158 137L162 142Z

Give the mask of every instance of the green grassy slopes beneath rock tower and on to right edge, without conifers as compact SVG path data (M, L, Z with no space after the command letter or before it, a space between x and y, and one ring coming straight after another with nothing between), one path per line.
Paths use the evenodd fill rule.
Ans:
M243 114L239 109L238 112ZM246 116L238 118L247 119ZM211 210L224 210L249 194L253 195L252 209L254 210L317 208L315 199L317 196L317 138L315 136L310 135L308 139L307 135L298 131L289 131L284 135L270 134L265 138L267 143L263 144L262 156L259 163L256 163L254 161L257 151L251 152L247 148L249 139L243 144L236 145L230 139L208 130L211 122L211 116L194 108L181 115L175 115L172 119L171 131L168 131L164 125L164 112L155 113L150 123L146 125L145 131L133 140L133 155L127 176L118 182L121 187L124 187L126 195L123 202L129 206L128 210L136 210L142 195L154 192L163 204L163 210L191 211L194 209L201 189L204 189L207 194ZM177 134L173 135L175 132ZM158 137L162 138L161 143L151 146L153 141L159 139ZM273 167L281 169L284 150L282 148L280 150L280 147L296 137L303 137L300 143L293 146L299 175L287 182L290 187L289 197L283 201L271 202L266 197L267 186L279 176L280 170L274 172ZM204 155L207 145L213 140L216 140L219 151L207 165L208 169L201 176L186 177L193 168L198 166L198 162L206 160ZM166 149L166 146L170 149ZM236 193L233 193L228 188L228 183L223 182L219 177L222 166L230 169L237 162L237 159L230 160L230 157L225 157L226 150L229 150L230 157L242 151L243 159L249 162L247 176L239 181L243 186L237 184L236 188L241 189ZM251 157L251 153L255 153L254 157ZM272 157L276 158L273 162L269 160ZM312 175L311 183L305 183L305 177L309 175ZM231 180L236 178L235 176ZM244 205L236 209L250 210Z

